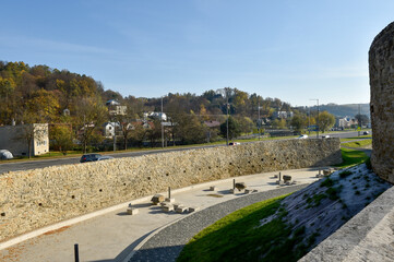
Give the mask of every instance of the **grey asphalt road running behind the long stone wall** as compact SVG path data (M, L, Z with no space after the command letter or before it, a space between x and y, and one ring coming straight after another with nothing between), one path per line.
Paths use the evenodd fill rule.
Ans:
M358 132L344 132L344 133L333 133L330 134L331 138L354 138L357 136ZM321 134L319 134L321 136ZM315 138L311 135L310 139ZM361 135L362 138L362 135ZM191 146L191 147L175 147L175 148L166 148L166 150L150 150L150 151L140 151L140 152L126 152L126 153L115 153L115 154L106 154L110 155L115 158L120 157L135 157L141 155L148 155L148 154L158 154L163 152L171 152L171 151L188 151L194 148L204 148L204 147L215 147L215 146L225 146L225 145L204 145L204 146ZM14 163L7 163L3 162L0 164L0 174L4 174L8 171L17 171L17 170L27 170L27 169L36 169L49 166L61 166L61 165L70 165L70 164L79 164L79 157L67 157L67 158L56 158L56 159L44 159L44 160L26 160L26 162L14 162Z

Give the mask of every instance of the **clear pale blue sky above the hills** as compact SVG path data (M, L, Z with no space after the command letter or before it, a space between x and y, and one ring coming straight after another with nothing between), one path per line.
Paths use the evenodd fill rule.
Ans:
M368 103L393 0L1 1L0 60L93 76L123 96L226 86L292 106Z

